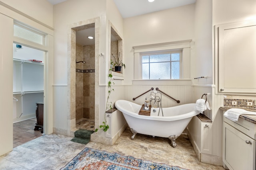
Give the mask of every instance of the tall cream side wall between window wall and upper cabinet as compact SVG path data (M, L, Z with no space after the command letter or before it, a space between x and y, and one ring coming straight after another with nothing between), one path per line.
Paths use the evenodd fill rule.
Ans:
M194 80L194 84L213 84L212 0L196 0L194 25L191 79L207 76Z

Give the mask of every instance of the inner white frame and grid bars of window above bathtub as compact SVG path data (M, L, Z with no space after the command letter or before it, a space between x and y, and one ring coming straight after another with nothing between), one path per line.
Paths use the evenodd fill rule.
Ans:
M179 60L179 64L180 64L180 72L179 72L179 79L182 79L182 49L174 49L174 50L161 50L161 51L149 51L149 52L142 52L142 53L140 53L140 63L141 63L141 65L140 65L140 72L142 73L142 56L146 56L146 55L148 55L148 56L150 56L150 55L162 55L162 54L170 54L170 55L172 55L172 54L177 54L177 53L179 53L180 54L180 60ZM170 58L170 61L167 61L167 62L165 62L165 63L170 63L170 69L172 70L172 62L174 62L174 61L172 61L171 60L171 58ZM154 62L154 63L158 63L158 62ZM161 63L161 62L159 62L159 63ZM140 76L140 78L142 79L142 74L140 74L139 75ZM172 75L171 75L171 71L170 71L170 77L172 77ZM153 80L153 79L143 79L143 80ZM170 78L170 79L160 79L160 80L176 80L176 79L172 79L172 78Z

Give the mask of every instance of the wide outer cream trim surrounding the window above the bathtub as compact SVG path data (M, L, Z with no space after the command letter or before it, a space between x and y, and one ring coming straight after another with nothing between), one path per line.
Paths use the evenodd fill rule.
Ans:
M159 43L151 45L134 46L134 80L142 80L142 60L140 53L162 50L181 50L182 51L182 70L180 70L180 79L190 79L190 46L192 40L175 41L169 43ZM184 68L186 68L184 70ZM147 79L148 80L148 79ZM168 79L177 80L177 79ZM146 81L146 80L143 80ZM158 80L160 81L160 80Z

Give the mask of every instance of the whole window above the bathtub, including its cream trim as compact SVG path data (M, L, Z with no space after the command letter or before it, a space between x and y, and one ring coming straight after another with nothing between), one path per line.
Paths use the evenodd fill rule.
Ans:
M191 45L193 41L184 40L133 46L134 83L190 79Z

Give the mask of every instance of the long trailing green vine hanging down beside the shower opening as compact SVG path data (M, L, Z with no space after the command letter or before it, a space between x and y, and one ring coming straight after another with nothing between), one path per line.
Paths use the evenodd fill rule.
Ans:
M110 63L110 69L109 71L111 72L112 71L112 66L113 66L113 61L111 60L111 63ZM114 82L112 82L112 74L109 73L108 74L108 78L109 78L109 81L108 81L108 98L107 98L107 101L106 101L106 110L105 110L105 113L108 109L112 109L112 102L108 102L109 98L110 98L110 94L111 92L114 92L114 89L112 88L112 84L115 84ZM104 132L106 132L108 129L109 129L109 126L106 124L107 121L106 121L106 114L104 114L104 121L102 122L102 125L100 125L100 130L103 130ZM98 128L95 129L95 132L98 131Z

